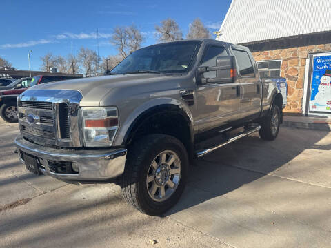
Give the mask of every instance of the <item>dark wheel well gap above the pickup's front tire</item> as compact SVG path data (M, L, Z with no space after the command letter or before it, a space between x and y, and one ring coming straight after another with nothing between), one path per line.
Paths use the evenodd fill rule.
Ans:
M145 114L130 130L125 145L131 145L142 136L147 134L168 134L174 136L192 152L192 135L190 123L187 118L177 110L162 110L150 114Z

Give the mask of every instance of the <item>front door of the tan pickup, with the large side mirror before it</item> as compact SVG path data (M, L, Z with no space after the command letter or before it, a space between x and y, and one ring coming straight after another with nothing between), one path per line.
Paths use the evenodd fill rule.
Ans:
M200 66L216 66L219 56L228 56L223 45L210 44L205 48ZM205 72L201 77L214 79L216 72ZM234 83L198 83L197 88L197 126L199 132L222 130L230 127L232 121L240 117L239 81Z

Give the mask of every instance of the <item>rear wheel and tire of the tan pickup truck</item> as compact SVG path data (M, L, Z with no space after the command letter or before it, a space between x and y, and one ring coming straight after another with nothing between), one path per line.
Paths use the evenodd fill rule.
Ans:
M266 141L273 141L277 138L279 125L281 124L281 110L277 105L272 105L270 113L261 122L259 130L260 137Z

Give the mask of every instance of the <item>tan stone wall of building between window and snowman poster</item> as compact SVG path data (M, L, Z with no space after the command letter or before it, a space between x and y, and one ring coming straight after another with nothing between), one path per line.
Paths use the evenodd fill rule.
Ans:
M302 113L303 81L305 59L309 52L331 52L331 43L306 45L295 48L282 48L253 52L256 61L281 59L281 76L288 81L288 105L283 110L287 113Z

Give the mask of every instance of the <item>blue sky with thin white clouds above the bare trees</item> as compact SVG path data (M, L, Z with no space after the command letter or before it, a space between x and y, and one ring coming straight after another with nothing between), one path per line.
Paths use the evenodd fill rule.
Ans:
M143 46L156 42L155 25L174 19L184 37L189 24L199 17L210 31L217 31L231 0L210 1L71 1L1 0L0 56L14 68L28 70L28 51L32 50L31 69L39 70L40 56L47 52L66 56L81 46L97 50L99 56L117 54L110 45L117 25L136 25L145 36Z

